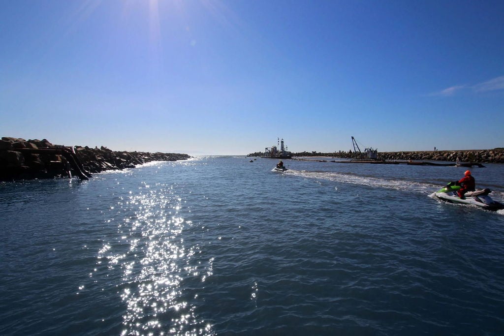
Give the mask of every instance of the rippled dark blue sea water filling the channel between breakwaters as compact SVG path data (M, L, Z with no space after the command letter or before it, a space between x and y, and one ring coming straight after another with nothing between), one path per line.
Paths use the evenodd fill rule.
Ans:
M0 334L504 334L504 212L429 197L465 168L248 161L0 184Z

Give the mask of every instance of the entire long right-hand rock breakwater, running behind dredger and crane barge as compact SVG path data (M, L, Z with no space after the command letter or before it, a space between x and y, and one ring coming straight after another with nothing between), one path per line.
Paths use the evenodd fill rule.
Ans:
M247 156L262 156L262 153L251 153ZM300 152L292 153L293 157L320 156L341 159L354 159L354 153L317 153ZM428 161L449 161L455 162L482 162L482 163L504 163L504 148L485 150L460 150L460 151L402 151L402 152L381 152L377 155L378 160L428 160Z

